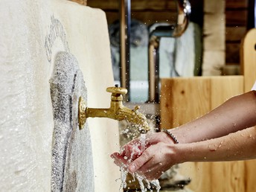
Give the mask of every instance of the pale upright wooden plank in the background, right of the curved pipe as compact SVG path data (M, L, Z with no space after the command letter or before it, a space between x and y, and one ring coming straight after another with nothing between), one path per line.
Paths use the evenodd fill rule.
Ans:
M225 64L225 2L205 0L204 12L202 75L220 75Z

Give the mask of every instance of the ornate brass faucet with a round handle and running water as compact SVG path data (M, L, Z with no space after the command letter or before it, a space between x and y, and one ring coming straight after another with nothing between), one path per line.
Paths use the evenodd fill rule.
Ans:
M79 98L78 123L80 129L83 129L86 118L112 118L118 121L126 120L138 127L140 132L150 130L147 118L138 112L139 106L135 106L135 109L129 109L123 105L123 95L127 94L127 89L115 85L115 87L108 87L106 92L112 93L109 109L88 108L83 101L83 97Z

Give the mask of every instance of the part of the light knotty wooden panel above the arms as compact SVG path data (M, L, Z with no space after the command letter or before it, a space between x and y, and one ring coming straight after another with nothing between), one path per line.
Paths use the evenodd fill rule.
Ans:
M175 77L161 80L161 127L198 118L228 98L243 93L243 76Z

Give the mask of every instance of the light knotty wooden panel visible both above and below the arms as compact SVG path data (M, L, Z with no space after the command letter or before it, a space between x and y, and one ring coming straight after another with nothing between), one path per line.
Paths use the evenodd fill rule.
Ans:
M162 79L161 127L185 124L242 92L243 76ZM192 191L246 192L244 161L187 162L180 167L182 175L191 177Z

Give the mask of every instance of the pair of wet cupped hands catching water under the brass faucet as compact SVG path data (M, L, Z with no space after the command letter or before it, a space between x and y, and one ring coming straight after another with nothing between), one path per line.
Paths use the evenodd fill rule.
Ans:
M127 167L130 173L138 170L141 172L140 174L147 176L148 179L155 179L154 177L161 176L163 171L169 169L171 163L167 164L167 160L164 160L161 162L162 166L157 164L159 166L157 169L155 167L154 170L149 169L152 171L148 171L147 167L156 166L156 164L153 164L154 161L157 162L164 159L163 150L166 149L168 144L172 146L173 140L166 133L149 132L130 141L121 148L121 153L112 153L111 157L115 160L115 164ZM161 149L161 146L165 147ZM158 160L158 158L160 159ZM147 166L144 166L145 163L147 163ZM132 168L132 165L135 165L135 170ZM144 171L145 169L147 172Z

